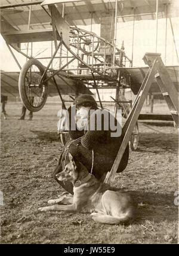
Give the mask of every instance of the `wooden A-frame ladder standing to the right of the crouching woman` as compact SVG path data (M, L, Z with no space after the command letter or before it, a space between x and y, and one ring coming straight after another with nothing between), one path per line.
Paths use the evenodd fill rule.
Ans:
M135 99L134 105L132 106L131 112L122 129L122 144L119 148L118 155L116 156L115 162L113 163L112 169L107 173L104 183L109 183L115 178L115 173L118 170L125 148L128 145L131 133L134 130L134 126L137 123L138 116L141 108L143 107L144 101L149 93L150 87L153 83L153 79L156 81L161 89L162 95L166 100L166 103L171 112L172 118L178 128L178 92L169 77L168 71L162 62L161 54L159 53L146 53L143 58L144 62L149 65L149 70L141 84L138 95Z

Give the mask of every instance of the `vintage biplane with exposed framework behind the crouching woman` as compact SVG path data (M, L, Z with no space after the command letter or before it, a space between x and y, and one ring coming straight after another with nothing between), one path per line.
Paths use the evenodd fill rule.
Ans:
M165 18L166 23L169 20L172 29L171 17L178 17L179 14L178 1L45 0L29 2L24 0L14 2L3 0L1 4L1 35L20 68L20 74L2 72L2 92L17 93L18 83L24 106L30 111L39 111L44 106L48 95L60 95L62 106L66 108L62 95L75 96L80 93L91 93L91 89L96 90L98 102L103 108L99 90L116 89L116 97L113 99L115 114L119 107L124 109L124 115L127 118L124 132L127 138L129 135L128 141L131 139L131 148L135 150L138 143L137 120L142 107L141 95L144 94L146 97L148 93L165 93L161 89L164 78L161 77L160 83L156 74L152 73L153 69L156 73L162 66L161 72L167 72L169 83L174 87L175 92L178 87L179 67L165 67L159 54L147 54L144 62L148 68L147 66L134 68L133 54L129 58L125 53L124 44L121 47L116 45L117 23L133 21L134 29L136 20L156 20L157 53L158 19ZM92 32L94 24L101 25L100 36ZM91 31L80 28L81 25L91 25ZM33 44L41 41L53 41L51 56L35 57ZM26 52L21 49L24 43L27 43ZM165 49L166 47L165 41ZM132 49L134 49L134 30ZM27 59L22 67L14 50ZM48 60L47 65L42 63L44 59ZM58 68L54 68L53 65L56 59ZM150 87L145 91L145 84L149 81ZM129 107L131 101L125 99L121 89L131 89L134 95L137 95L132 108ZM172 103L170 106L173 106ZM176 115L172 113L177 123ZM125 141L124 144L126 143L128 142Z

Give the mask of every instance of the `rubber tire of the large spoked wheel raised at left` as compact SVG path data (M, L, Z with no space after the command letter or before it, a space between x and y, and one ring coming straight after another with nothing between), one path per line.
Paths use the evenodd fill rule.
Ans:
M22 67L19 78L18 78L18 90L19 90L19 94L20 94L20 98L21 101L23 102L23 105L32 112L37 112L39 110L41 110L43 108L43 106L45 105L45 102L47 101L47 96L48 96L48 84L45 85L46 87L46 93L45 93L45 97L44 100L42 101L42 104L40 106L32 106L29 103L29 100L27 99L26 96L26 91L24 89L24 84L25 84L25 80L26 80L26 73L28 71L28 69L30 68L30 66L35 65L39 68L39 71L41 72L41 74L44 73L44 66L42 65L41 62L39 62L36 59L30 59L28 60ZM47 78L45 76L45 78Z

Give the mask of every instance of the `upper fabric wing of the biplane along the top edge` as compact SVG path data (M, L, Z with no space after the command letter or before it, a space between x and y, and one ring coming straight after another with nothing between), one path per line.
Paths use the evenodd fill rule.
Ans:
M1 0L1 33L9 43L51 41L53 36L50 24L51 18L47 13L47 5L41 6L42 2L18 0L17 4L15 0ZM100 24L101 17L112 17L112 13L115 10L115 0L45 0L44 4L52 4L53 2L61 14L64 6L64 18L72 26L91 25L91 21L92 24ZM28 29L30 9L27 5L28 3L33 4L31 5L30 29ZM168 17L178 17L178 0L160 0L158 19L166 17L166 4L169 4ZM118 1L118 22L133 20L134 8L135 20L156 19L156 0L121 0ZM8 27L11 26L11 29L3 24L7 22L9 23Z

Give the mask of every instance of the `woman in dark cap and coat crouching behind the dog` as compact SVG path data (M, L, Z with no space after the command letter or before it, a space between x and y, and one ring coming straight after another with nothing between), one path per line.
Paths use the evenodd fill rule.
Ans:
M72 115L74 106L76 106L76 117ZM103 180L106 173L112 168L122 142L120 136L112 137L114 130L110 128L110 123L107 125L108 129L106 129L106 120L108 122L112 120L112 118L110 119L111 114L103 109L104 114L101 115L101 110L97 108L97 103L91 95L76 97L73 106L68 111L70 120L76 118L76 127L72 129L71 124L74 120L70 121L69 134L71 139L67 142L64 153L60 156L58 166L53 173L54 178L57 180L55 175L63 170L67 164L67 153L70 152L76 160L87 167L95 178ZM107 116L108 118L105 119ZM115 118L113 117L113 119ZM99 120L101 120L100 124L97 123ZM115 124L117 122L115 119ZM98 129L99 127L100 129ZM118 172L125 169L128 157L129 147L127 146L119 164ZM58 180L57 182L68 192L73 193L72 184L69 184L69 182L64 184Z

